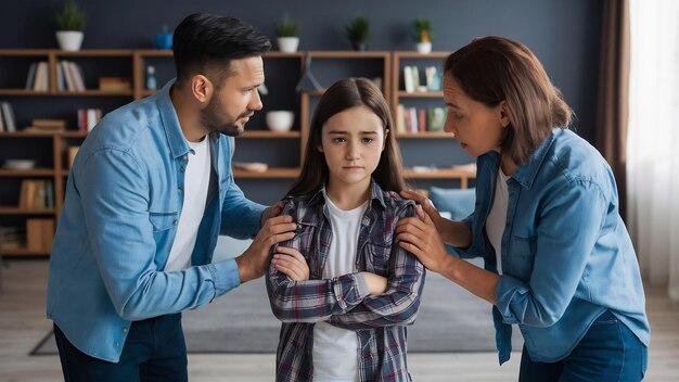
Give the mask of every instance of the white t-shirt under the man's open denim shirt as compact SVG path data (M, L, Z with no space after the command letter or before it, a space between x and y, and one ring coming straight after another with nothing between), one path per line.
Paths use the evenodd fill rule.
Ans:
M209 188L210 157L209 139L189 142L191 152L184 171L184 204L179 214L177 235L172 242L165 270L181 270L191 266L191 254L198 235L198 227L205 213L207 189Z

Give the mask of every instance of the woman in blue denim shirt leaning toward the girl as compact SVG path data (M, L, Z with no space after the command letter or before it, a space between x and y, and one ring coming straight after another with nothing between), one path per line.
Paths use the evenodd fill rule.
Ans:
M500 362L518 324L520 381L641 380L650 329L615 180L567 130L572 111L542 65L516 41L476 39L446 60L444 100L446 131L477 156L475 211L450 221L405 191L425 214L398 222L400 245L494 304Z

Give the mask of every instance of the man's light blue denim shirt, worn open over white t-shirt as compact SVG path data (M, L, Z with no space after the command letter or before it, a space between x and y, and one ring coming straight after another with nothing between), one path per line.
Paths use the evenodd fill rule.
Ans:
M77 348L108 361L119 359L130 321L196 308L238 286L233 259L210 264L217 237L256 234L264 211L233 182L232 141L212 133L210 191L192 267L163 271L190 151L172 85L106 115L82 143L66 184L47 315Z

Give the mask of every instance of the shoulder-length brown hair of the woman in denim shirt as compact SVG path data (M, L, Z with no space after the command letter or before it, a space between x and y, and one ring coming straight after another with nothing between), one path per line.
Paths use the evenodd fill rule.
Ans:
M450 54L444 73L471 99L495 107L505 101L511 125L501 143L515 164L528 161L552 128L567 128L573 111L542 64L521 42L497 36L474 39Z

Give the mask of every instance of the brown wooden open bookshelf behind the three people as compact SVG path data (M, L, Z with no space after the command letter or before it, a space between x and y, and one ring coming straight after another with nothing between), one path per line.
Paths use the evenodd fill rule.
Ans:
M402 88L402 63L410 61L438 61L447 53L420 54L415 52L387 51L307 51L295 53L269 52L264 55L265 84L269 96L262 96L264 110L255 113L247 124L246 132L236 139L234 162L265 162L267 170L261 173L234 169L234 177L243 181L279 180L292 182L299 175L304 158L306 137L310 118L318 99L335 80L348 76L381 78L382 90L395 111L400 102L425 100L440 102L440 92L406 92ZM60 62L71 61L81 67L84 90L71 90L57 80ZM33 63L47 63L47 89L36 90L27 84L27 72ZM65 182L69 173L69 151L81 144L86 131L78 126L77 109L97 107L105 114L132 100L153 94L146 89L146 67L155 68L157 88L174 77L174 60L167 50L81 50L65 52L53 49L0 49L0 101L12 104L16 120L15 132L0 132L0 164L8 160L30 160L33 168L11 169L0 166L0 227L26 227L29 220L59 219L64 200ZM295 90L305 69L310 68L321 89L305 87ZM4 75L7 74L7 75ZM121 78L128 88L102 90L101 77ZM30 85L30 89L26 89ZM39 106L39 107L37 107ZM266 128L268 111L291 110L295 123L291 131L273 132ZM396 113L394 113L396 114ZM23 131L35 118L59 118L66 120L62 131ZM403 149L410 142L454 142L445 132L401 132L397 135ZM427 151L426 149L415 149ZM446 154L440 154L445 156ZM427 165L427 163L424 163ZM459 187L466 188L475 174L469 168L437 166L433 170L417 170L413 163L406 177L418 187L421 181L453 179ZM22 184L37 180L51 184L53 204L50 207L20 207ZM259 186L257 186L259 187ZM35 221L31 222L35 227ZM26 239L24 239L26 241ZM43 239L44 241L44 239ZM48 249L27 245L4 246L2 252L12 256L46 256Z

